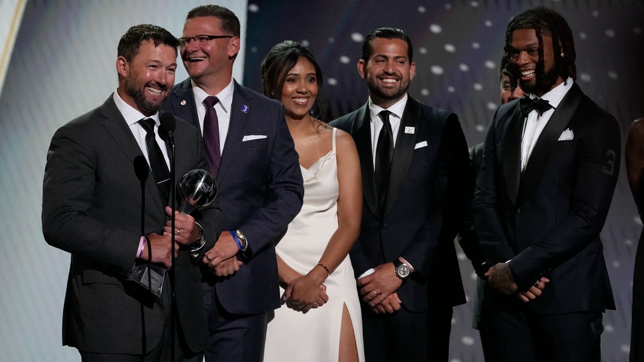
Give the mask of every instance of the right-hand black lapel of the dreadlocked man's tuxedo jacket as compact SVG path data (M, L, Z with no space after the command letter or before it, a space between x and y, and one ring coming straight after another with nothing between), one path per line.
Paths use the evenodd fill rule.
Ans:
M582 100L582 90L574 83L559 106L554 110L552 117L548 120L548 124L545 125L544 130L539 135L539 139L536 141L535 149L530 154L526 172L521 180L516 205L523 204L534 193L536 186L538 186L544 175L545 167L548 165L553 149L562 132L573 118L580 100Z

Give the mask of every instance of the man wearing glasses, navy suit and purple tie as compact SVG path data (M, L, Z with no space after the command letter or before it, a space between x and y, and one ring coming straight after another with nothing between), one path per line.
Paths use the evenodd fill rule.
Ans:
M240 23L231 10L198 6L180 54L190 77L163 106L204 135L225 229L204 255L207 361L261 361L267 312L279 307L274 241L302 206L299 157L284 107L232 79ZM243 265L242 265L243 263ZM212 272L211 272L212 271Z

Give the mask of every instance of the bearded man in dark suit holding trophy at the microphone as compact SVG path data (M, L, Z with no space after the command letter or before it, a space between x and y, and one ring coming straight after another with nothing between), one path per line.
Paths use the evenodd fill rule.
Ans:
M62 341L78 348L83 361L168 361L171 340L176 361L201 361L207 347L198 265L223 229L222 212L214 202L194 217L176 214L171 229L167 149L156 131L158 108L175 81L177 45L158 26L130 28L118 43L117 91L58 129L47 154L43 234L71 253ZM196 129L176 119L174 138L177 175L206 167ZM139 175L151 165L144 191L137 157L143 160ZM141 235L142 218L147 236ZM128 281L141 263L169 269L173 251L175 339L169 278L159 298Z

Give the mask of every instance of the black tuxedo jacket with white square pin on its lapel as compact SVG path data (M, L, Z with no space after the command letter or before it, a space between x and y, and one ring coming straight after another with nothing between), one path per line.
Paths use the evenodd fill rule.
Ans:
M471 198L461 184L468 184L469 158L458 117L408 98L383 216L375 190L368 104L331 125L354 137L362 168L361 233L350 253L355 275L402 256L415 269L397 291L407 309L428 310L428 287L433 301L450 307L465 303L453 240ZM408 127L413 133L405 132ZM421 142L427 146L420 147Z

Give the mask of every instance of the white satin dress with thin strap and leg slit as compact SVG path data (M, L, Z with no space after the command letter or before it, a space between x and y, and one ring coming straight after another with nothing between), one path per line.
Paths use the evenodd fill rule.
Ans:
M289 267L305 275L318 262L337 229L336 128L333 148L311 167L299 166L304 179L304 204L279 241L276 252ZM328 276L328 302L307 313L282 303L270 319L266 334L266 362L337 362L343 305L351 316L359 361L365 361L362 318L351 260ZM280 287L281 294L284 289Z

